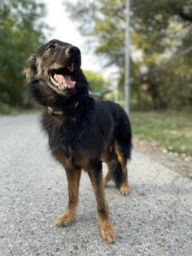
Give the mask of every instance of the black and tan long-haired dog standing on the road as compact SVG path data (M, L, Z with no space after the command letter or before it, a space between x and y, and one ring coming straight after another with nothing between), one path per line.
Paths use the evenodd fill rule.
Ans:
M68 207L56 225L68 226L75 219L83 169L95 193L102 239L115 243L104 186L113 177L122 195L130 192L126 164L131 157L131 125L124 109L93 99L81 70L81 51L74 45L51 40L31 54L25 70L29 93L44 106L42 125L52 156L67 173ZM102 161L108 169L104 179Z

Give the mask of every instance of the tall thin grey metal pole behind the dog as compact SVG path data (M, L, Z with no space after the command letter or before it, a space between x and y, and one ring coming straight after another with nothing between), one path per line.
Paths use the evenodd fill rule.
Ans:
M129 17L130 17L130 0L126 0L126 19L125 19L125 111L129 115L130 105L130 38L129 38Z

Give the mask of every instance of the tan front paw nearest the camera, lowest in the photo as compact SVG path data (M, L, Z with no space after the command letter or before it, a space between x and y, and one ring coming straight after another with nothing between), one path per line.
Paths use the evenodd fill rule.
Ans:
M116 232L111 222L104 221L104 223L100 225L100 234L102 239L104 239L106 242L110 244L116 242Z

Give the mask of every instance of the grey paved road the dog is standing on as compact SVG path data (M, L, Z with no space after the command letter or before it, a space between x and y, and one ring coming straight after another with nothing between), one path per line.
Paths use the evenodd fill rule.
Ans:
M76 221L58 228L67 206L65 172L52 159L40 115L0 119L0 255L192 255L192 182L133 151L131 195L106 188L115 244L102 241L83 173Z

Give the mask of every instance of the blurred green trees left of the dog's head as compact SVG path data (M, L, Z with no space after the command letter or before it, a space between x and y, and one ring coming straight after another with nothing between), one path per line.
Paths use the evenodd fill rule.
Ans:
M24 104L24 66L44 40L44 4L34 0L0 3L0 111ZM6 106L3 107L3 106Z

